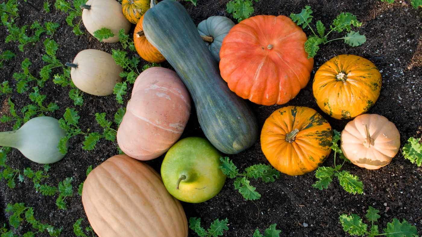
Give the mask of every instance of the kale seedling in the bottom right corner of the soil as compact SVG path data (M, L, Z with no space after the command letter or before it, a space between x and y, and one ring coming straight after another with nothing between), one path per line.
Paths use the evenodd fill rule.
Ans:
M373 207L369 207L366 211L366 218L368 218L368 221L371 222L371 229L368 232L368 225L362 222L362 219L360 216L356 214L352 215L346 215L343 214L340 216L340 223L343 226L343 230L345 232L349 232L349 234L357 235L357 236L364 236L365 234L368 235L368 237L374 237L379 235L386 235L391 237L417 237L418 231L415 226L412 226L409 224L405 219L403 219L403 222L400 223L400 221L396 218L393 219L392 222L387 223L387 228L383 229L384 234L379 234L378 226L373 225L374 221L378 221L378 218L381 216L378 215L379 210L376 210Z

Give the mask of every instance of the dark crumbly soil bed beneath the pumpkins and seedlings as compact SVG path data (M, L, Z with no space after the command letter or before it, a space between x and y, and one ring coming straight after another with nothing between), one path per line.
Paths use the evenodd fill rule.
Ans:
M225 11L228 0L198 0L197 7L190 2L179 0L187 8L195 24L209 16L224 15L233 19ZM31 25L33 21L53 21L60 23L60 28L53 35L53 39L59 44L57 57L63 64L72 62L76 54L87 48L95 48L111 52L112 49L122 49L119 43L99 43L97 39L89 35L81 24L81 30L85 32L82 36L76 36L72 28L65 22L67 15L62 11L55 11L54 1L49 0L51 12L42 11L42 0L19 0L19 15L16 24L22 27ZM362 46L352 48L344 44L343 40L332 41L320 46L314 64L314 71L311 80L298 96L286 105L300 105L314 108L324 116L333 129L341 131L347 122L330 118L318 108L312 95L312 78L320 65L328 59L340 54L355 54L371 60L381 71L383 85L381 96L369 113L377 113L387 117L400 131L401 144L406 144L409 137L421 137L422 125L422 68L421 66L421 8L415 11L410 4L404 1L387 5L381 1L339 1L339 0L261 0L254 2L255 12L253 15L286 15L299 13L305 5L313 9L315 23L321 20L326 26L330 25L333 19L341 12L351 12L363 22L358 30L367 37L367 42ZM41 9L38 11L37 9ZM235 19L234 22L237 23ZM76 22L76 20L75 20ZM133 25L133 28L135 26ZM5 26L0 26L3 32L0 34L0 52L10 50L16 57L4 63L1 69L0 82L9 81L14 92L8 95L0 95L1 115L9 115L8 98L16 104L19 111L23 106L32 103L28 97L29 93L18 94L16 92L16 81L12 75L21 72L21 62L29 58L32 65L30 73L39 77L39 70L46 65L41 60L44 52L43 40L46 34L41 35L39 42L24 47L24 52L19 51L18 43L4 43L8 35ZM133 29L132 29L133 30ZM309 30L305 30L310 34ZM34 32L29 29L27 35ZM132 34L131 34L132 36ZM343 34L334 33L330 38L342 37ZM125 50L128 55L135 55L130 50ZM139 69L147 62L141 60ZM172 68L167 62L162 63L163 67ZM55 73L62 73L62 69L53 69ZM36 86L35 81L30 87ZM131 86L128 92L131 91ZM52 82L46 82L40 89L41 94L47 95L46 103L56 102L60 109L54 113L47 114L54 118L62 118L66 108L76 108L81 117L79 127L83 131L102 132L103 129L95 121L95 113L107 113L110 121L114 120L114 113L124 107L129 100L130 93L124 96L124 104L120 105L114 96L97 97L84 94L83 106L75 106L69 98L70 87L61 87ZM212 92L210 92L212 93ZM276 109L286 105L261 106L250 103L257 115L260 126L265 119ZM1 131L12 130L13 124L0 124ZM116 126L115 124L113 126ZM114 127L116 128L116 127ZM205 137L200 129L196 117L196 111L192 110L187 128L181 138L199 136ZM63 228L62 237L74 237L73 224L79 218L83 218L81 226L89 225L81 197L77 194L78 185L86 178L86 170L92 165L97 167L109 157L118 154L117 143L101 139L95 150L85 151L82 149L83 136L78 135L70 139L69 152L60 162L51 164L50 177L43 180L41 184L48 183L57 186L66 177L73 177L73 197L65 199L67 210L58 209L55 205L57 195L44 196L37 193L33 188L32 180L25 178L24 182L15 179L16 187L10 189L4 179L0 181L0 224L6 224L15 234L22 236L28 231L34 231L32 226L23 221L18 229L9 225L8 218L11 213L5 211L8 204L24 202L26 206L34 208L35 218L42 223L48 223L55 228ZM160 164L164 156L147 162L154 169L160 172ZM262 154L260 141L258 140L251 148L237 155L230 155L230 159L243 170L244 168L257 163L268 164ZM32 170L42 170L42 164L36 164L25 158L18 150L12 149L8 154L8 165L21 172L30 167ZM333 165L333 154L331 154L324 166ZM311 185L317 181L315 172L301 176L289 176L281 174L281 177L274 183L264 183L262 180L252 180L251 184L257 187L262 197L255 201L246 201L241 194L233 188L233 180L227 179L222 191L207 202L199 204L182 203L187 218L200 217L206 228L216 218L228 218L229 230L225 236L252 236L256 228L263 233L264 229L271 224L277 224L281 230L280 236L349 236L339 223L341 214L357 214L364 217L368 206L380 210L381 218L376 223L381 228L387 227L387 222L393 218L400 221L404 218L416 226L419 235L422 234L422 170L416 164L411 164L403 158L401 149L392 162L379 170L366 170L353 164L345 164L345 170L360 177L364 184L363 194L349 194L339 185L335 178L328 189L319 190ZM2 169L0 169L2 170ZM23 216L23 215L22 215ZM366 221L366 218L364 218ZM367 223L367 222L366 222ZM369 224L369 223L367 223ZM382 232L382 231L381 231ZM46 232L36 236L47 236ZM189 236L197 236L189 230Z

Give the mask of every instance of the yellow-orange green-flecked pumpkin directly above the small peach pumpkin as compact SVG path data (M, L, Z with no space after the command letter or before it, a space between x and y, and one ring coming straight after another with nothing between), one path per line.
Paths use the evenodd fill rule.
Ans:
M350 119L374 105L381 83L381 73L371 61L343 54L319 67L312 89L322 111L333 118Z

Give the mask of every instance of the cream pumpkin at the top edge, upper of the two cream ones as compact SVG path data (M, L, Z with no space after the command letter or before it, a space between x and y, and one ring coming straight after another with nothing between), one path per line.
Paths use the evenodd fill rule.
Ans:
M103 42L118 42L120 29L124 29L125 34L129 33L132 24L123 15L122 4L116 0L88 0L81 8L82 22L91 35L102 28L110 29L115 35L104 39Z

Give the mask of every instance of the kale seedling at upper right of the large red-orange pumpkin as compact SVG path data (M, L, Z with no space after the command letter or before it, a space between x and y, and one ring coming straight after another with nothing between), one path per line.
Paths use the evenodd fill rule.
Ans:
M308 53L308 58L313 58L319 49L319 44L323 43L326 44L333 40L341 40L344 39L344 43L347 43L349 46L360 46L366 42L365 35L360 35L359 32L351 31L351 26L360 27L362 22L357 21L356 16L351 13L344 13L342 12L337 18L333 21L333 25L330 25L330 31L325 34L325 26L322 24L321 21L317 22L317 32L318 35L312 30L309 23L312 21L313 16L311 14L313 11L311 10L310 6L305 6L305 9L302 9L302 12L299 14L292 13L290 14L290 18L293 22L296 22L298 25L302 25L302 28L305 29L309 27L314 35L309 36L308 40L305 42L305 51ZM327 40L327 36L333 32L343 32L346 30L347 35L343 38L337 38L333 40Z

